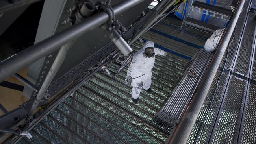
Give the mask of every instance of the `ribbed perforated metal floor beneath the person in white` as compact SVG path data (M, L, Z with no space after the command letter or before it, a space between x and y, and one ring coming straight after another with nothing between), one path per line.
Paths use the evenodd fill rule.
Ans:
M134 51L143 46L132 45ZM19 143L164 143L169 132L150 121L160 109L188 61L173 54L156 56L152 70L152 93L141 90L138 104L132 103L132 87L125 84L127 68L115 79L118 66L96 73L32 130L30 140ZM116 67L116 68L115 68Z

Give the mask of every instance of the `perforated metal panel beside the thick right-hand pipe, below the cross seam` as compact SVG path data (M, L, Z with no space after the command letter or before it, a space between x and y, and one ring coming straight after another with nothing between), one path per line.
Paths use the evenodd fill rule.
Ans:
M223 99L223 94L226 89L229 75L217 72L214 78L214 83L212 83L210 91L204 101L203 107L197 118L197 122L193 128L192 133L187 141L188 144L197 143L204 144L208 143L208 140L215 123L221 101ZM220 78L219 78L220 77ZM219 79L219 84L217 85ZM217 86L216 92L215 87Z

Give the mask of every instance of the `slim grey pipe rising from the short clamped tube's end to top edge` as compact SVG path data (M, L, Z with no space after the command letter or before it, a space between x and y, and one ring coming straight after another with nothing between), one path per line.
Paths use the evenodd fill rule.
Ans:
M158 20L158 18L160 18L163 13L165 13L165 11L167 11L171 6L173 6L174 2L176 2L176 0L170 0L170 2L161 10L160 13L158 13L158 15L156 15L155 17L152 18L152 20L148 21L147 25L144 26L136 35L135 37L133 37L131 39L131 41L129 42L129 45L132 45L135 41L137 41L137 39L139 39L139 37L141 35L143 35L143 33L152 25L154 24L154 22L156 22L156 20Z

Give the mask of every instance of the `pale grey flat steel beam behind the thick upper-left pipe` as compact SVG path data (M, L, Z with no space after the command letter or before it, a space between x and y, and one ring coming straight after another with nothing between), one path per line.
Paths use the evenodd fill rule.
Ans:
M54 35L56 31L58 31L59 27L64 27L63 25L59 26L59 21L61 19L60 13L63 13L63 9L65 9L66 5L69 5L69 3L73 3L68 3L66 1L67 0L45 0L34 44L37 44L38 42L43 41L44 39ZM48 65L52 65L52 62L57 54L53 53L51 55L52 57L50 59L48 57L49 55L47 55L28 66L28 73L26 79L28 79L39 88L41 87L40 84L42 84L46 77L46 74L42 74L42 70L46 72L49 70L48 67L50 66ZM46 66L47 68L43 69L46 64L46 59L48 59L49 62ZM41 76L43 77L40 78ZM39 81L37 80L39 78L41 79L41 83L38 85ZM30 87L24 86L23 94L27 99L30 99L30 97L32 96L32 92L33 90Z

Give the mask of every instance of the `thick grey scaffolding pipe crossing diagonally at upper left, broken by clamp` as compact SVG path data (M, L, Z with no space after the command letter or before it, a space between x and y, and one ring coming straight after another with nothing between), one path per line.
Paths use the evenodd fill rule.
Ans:
M126 0L113 6L113 11L115 15L119 15L143 1L145 0ZM0 63L0 82L15 74L25 66L32 64L38 59L41 59L43 56L49 55L58 50L64 44L76 39L77 37L80 37L84 33L93 30L94 28L97 28L108 20L109 16L106 12L102 11L96 13L75 26L67 28L66 30L63 30L33 46L30 46L29 48L26 48L26 50L19 52L17 55L6 59Z

